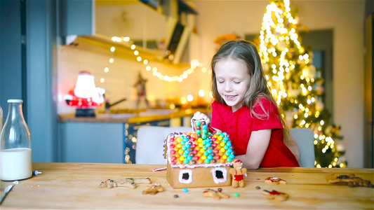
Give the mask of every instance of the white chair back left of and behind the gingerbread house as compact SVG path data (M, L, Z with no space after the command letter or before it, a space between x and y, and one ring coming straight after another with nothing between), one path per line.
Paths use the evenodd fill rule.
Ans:
M192 132L192 127L142 126L138 130L135 163L166 164L163 159L163 142L173 132Z

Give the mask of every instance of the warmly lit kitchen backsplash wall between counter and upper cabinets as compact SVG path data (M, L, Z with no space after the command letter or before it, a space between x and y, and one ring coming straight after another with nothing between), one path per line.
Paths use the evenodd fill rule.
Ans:
M109 59L114 58L113 63L109 63ZM164 66L159 63L150 62L151 66L156 66L160 73L168 76L180 76L187 67L175 69L171 66ZM109 68L105 72L105 67ZM138 80L138 72L141 72L142 77L147 79L146 89L147 97L151 105L156 104L158 99L173 99L175 97L187 97L187 94L194 94L197 96L199 91L199 83L196 81L196 73L194 76L189 76L182 83L166 82L159 80L152 75L152 71L147 71L142 62L114 57L108 54L100 54L86 50L80 50L70 45L60 45L58 47L58 114L74 113L73 107L67 106L64 101L64 95L74 87L76 77L79 71L90 71L95 76L96 87L101 87L106 90L106 97L110 103L116 102L119 99L126 98L125 102L121 102L114 106L114 109L137 109L136 100L137 92L133 85ZM105 83L100 83L100 78L105 78ZM183 85L192 84L188 88ZM208 89L206 90L208 91ZM196 93L196 94L195 94ZM140 104L140 109L145 109L145 103ZM104 107L98 108L98 111L104 111Z

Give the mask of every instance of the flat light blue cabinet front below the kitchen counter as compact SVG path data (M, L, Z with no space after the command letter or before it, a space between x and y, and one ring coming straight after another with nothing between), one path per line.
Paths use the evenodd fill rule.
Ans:
M59 162L122 163L123 123L59 125Z

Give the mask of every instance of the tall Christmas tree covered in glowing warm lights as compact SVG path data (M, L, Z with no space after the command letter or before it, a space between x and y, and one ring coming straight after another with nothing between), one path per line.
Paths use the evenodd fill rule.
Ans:
M343 152L335 144L340 127L328 124L330 114L321 99L323 78L312 64L312 51L302 46L299 29L290 1L271 0L258 39L268 85L288 126L314 131L315 166L346 167Z

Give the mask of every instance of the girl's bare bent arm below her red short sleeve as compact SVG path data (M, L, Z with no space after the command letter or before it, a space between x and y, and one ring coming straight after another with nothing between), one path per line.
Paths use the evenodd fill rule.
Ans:
M247 153L245 155L235 156L243 162L243 167L247 169L258 169L264 158L267 146L269 146L272 130L258 130L251 134L248 141Z

